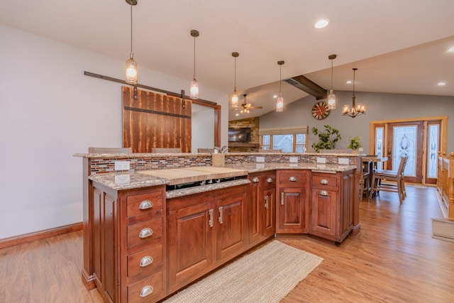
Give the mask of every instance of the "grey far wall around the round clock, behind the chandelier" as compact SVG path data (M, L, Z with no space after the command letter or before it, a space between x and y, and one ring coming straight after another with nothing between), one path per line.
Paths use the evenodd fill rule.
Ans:
M352 119L342 116L343 104L352 102L352 92L334 92L337 99L337 108L321 121L311 115L312 106L316 103L315 97L308 96L284 107L282 113L272 111L260 117L260 128L279 126L309 126L309 150L318 138L311 133L311 128L324 130L328 124L338 128L342 140L336 143L336 148L346 148L348 138L360 136L364 153L369 153L370 121L391 119L423 118L430 116L454 116L454 97L423 96L413 94L380 94L355 92L356 102L367 106L365 115ZM447 152L454 152L454 123L448 118L448 146Z

